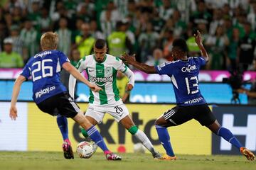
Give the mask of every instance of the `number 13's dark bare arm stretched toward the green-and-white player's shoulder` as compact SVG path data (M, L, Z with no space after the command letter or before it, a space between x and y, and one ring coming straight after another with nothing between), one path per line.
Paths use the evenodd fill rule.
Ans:
M132 64L135 68L141 70L142 72L146 72L147 74L156 74L156 69L154 66L149 66L147 64L143 64L140 62L137 62L135 60L135 56L129 56L127 53L124 53L121 57L121 60L123 60L125 63Z

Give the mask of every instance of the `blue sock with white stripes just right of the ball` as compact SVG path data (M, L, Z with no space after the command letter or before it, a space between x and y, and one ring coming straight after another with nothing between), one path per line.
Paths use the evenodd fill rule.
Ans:
M87 130L87 134L95 142L95 144L103 150L103 152L109 150L107 149L107 145L105 144L102 136L100 135L100 132L97 130L97 128L95 128L95 126L92 125L92 127Z

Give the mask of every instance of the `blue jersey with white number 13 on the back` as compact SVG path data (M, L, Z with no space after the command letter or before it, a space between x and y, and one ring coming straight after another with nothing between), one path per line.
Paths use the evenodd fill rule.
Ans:
M156 66L156 71L171 77L178 105L200 105L206 101L199 90L198 74L200 67L205 64L203 57L189 57L187 61L164 62Z

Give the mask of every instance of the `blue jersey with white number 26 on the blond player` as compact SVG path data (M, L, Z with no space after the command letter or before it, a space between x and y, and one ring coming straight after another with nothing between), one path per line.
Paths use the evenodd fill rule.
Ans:
M33 81L33 101L41 103L67 91L60 82L60 70L65 62L69 62L68 57L58 50L42 51L31 57L21 75Z

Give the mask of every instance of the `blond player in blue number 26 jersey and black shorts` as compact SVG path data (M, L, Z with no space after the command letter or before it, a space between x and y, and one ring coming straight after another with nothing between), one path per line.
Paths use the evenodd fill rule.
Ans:
M41 36L42 52L39 52L28 61L23 68L21 75L14 83L13 94L11 97L10 117L12 120L17 118L16 102L21 84L31 77L33 82L33 101L35 101L38 108L50 115L63 115L67 118L73 118L82 128L87 130L90 138L99 146L103 152L107 152L106 158L108 160L121 160L117 154L113 154L107 149L102 136L82 114L78 105L68 94L65 86L60 82L61 68L70 72L76 79L79 79L84 84L89 86L92 91L98 92L102 90L95 84L91 84L85 77L73 67L68 57L63 52L57 49L58 35L56 33L48 32ZM70 145L64 148L64 157L73 159L73 151Z

